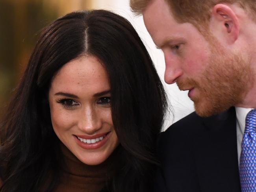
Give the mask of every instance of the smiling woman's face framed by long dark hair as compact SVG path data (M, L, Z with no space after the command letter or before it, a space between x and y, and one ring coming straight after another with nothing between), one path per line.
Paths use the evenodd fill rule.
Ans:
M119 144L108 75L96 57L66 63L52 79L49 103L56 135L83 163L104 162Z

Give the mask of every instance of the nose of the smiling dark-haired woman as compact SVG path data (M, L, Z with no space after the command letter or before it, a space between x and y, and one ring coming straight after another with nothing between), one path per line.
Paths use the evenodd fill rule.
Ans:
M88 135L96 133L102 127L100 115L94 107L87 106L83 109L78 127Z

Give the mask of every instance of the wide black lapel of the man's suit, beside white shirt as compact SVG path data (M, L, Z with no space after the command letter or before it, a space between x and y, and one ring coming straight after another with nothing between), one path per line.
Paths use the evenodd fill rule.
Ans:
M203 118L194 151L202 192L240 192L234 107Z

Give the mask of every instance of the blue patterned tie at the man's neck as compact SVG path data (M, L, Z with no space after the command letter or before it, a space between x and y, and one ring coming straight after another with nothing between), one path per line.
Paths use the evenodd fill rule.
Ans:
M239 168L241 191L256 192L256 109L245 119Z

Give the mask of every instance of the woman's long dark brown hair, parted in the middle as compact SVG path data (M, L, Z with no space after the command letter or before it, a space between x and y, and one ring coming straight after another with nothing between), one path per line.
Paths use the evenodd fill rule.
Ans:
M41 34L1 126L1 192L53 191L58 185L61 151L47 95L56 72L81 55L102 62L111 87L121 145L106 190L145 191L152 183L156 137L167 107L163 85L132 25L115 13L93 10L58 18Z

